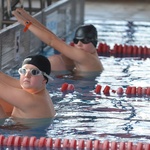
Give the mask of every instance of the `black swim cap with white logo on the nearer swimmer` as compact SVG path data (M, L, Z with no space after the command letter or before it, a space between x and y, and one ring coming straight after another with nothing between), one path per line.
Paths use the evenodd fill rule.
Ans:
M43 55L32 55L28 56L24 59L22 66L25 64L31 64L36 66L40 71L44 72L43 76L48 79L50 78L49 75L51 73L51 64L47 57Z

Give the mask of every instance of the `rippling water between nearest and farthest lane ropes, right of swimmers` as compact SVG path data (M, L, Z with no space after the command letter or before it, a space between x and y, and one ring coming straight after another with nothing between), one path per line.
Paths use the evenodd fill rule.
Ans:
M119 97L95 94L97 84L111 89L128 86L149 87L150 60L101 57L105 70L95 80L55 79L49 88L58 116L47 136L117 141L150 141L149 97ZM136 70L136 71L135 71ZM74 93L63 94L65 82L75 86ZM57 86L56 86L57 85ZM56 86L56 88L52 88ZM59 87L59 88L58 88Z

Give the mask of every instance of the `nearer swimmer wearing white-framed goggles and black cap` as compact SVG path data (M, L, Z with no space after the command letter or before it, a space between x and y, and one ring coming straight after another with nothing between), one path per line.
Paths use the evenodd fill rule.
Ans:
M49 60L42 55L28 56L18 72L20 80L0 72L0 118L53 118L55 110L46 89Z

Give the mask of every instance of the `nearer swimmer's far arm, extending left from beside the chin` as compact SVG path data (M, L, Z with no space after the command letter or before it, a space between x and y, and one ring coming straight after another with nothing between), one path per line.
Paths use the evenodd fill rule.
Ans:
M20 82L18 79L15 79L3 72L0 72L0 83L1 82L4 82L5 84L8 84L8 85L16 87L16 88L21 88Z

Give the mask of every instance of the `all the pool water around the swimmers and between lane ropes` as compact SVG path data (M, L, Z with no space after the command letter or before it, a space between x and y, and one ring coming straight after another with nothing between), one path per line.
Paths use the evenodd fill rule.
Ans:
M112 48L117 44L148 46L149 27L146 22L91 21L99 33L99 41ZM48 128L0 129L1 134L36 136L37 138L68 138L150 143L150 100L147 96L118 96L111 92L95 94L96 85L118 87L150 87L150 59L102 57L104 72L95 78L55 76L47 88L57 116ZM15 72L15 71L14 71ZM17 76L18 74L14 74ZM63 83L73 84L72 93L62 93Z

